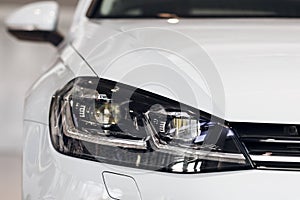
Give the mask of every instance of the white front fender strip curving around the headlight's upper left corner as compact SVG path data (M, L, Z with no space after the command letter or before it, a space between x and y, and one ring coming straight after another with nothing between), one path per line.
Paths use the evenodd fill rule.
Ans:
M55 92L76 76L95 76L71 47L66 47L60 53L58 61L27 92L25 120L48 124L50 103Z

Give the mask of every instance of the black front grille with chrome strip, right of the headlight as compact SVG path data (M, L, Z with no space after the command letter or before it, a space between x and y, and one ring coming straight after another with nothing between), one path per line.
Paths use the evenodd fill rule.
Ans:
M300 169L300 126L232 123L257 168Z

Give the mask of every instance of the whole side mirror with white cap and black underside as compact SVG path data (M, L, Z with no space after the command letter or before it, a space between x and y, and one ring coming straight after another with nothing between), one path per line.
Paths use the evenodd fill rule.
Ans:
M6 19L6 28L18 39L46 41L58 46L63 40L57 32L58 10L54 1L27 4Z

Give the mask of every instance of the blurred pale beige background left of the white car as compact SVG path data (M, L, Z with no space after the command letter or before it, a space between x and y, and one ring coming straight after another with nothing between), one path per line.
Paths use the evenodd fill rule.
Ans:
M5 17L32 0L0 0L0 196L21 199L22 117L26 91L48 69L56 49L46 43L30 43L11 37ZM59 30L66 34L76 0L59 0Z

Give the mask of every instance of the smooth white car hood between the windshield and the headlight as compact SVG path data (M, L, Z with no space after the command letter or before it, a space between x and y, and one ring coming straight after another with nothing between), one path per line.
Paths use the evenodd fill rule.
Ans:
M99 77L229 121L300 123L300 20L107 19L75 35Z

